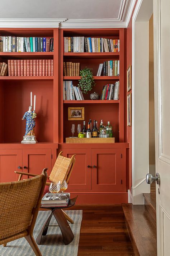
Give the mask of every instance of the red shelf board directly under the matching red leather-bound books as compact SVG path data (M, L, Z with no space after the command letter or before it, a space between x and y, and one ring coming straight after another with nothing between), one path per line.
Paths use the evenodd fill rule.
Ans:
M52 81L53 76L0 76L0 80Z

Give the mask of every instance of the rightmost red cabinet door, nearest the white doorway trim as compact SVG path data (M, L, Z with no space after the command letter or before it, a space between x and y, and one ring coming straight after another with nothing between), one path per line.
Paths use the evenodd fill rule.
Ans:
M126 192L126 157L121 149L92 149L91 163L93 190Z

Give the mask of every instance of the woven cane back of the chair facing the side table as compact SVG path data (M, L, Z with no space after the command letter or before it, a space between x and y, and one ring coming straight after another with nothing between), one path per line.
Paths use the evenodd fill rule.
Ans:
M66 182L68 183L71 172L74 167L74 163L75 163L75 154L71 158L68 158L68 157L62 156L62 151L61 151L58 154L55 165L51 171L51 174L49 175L49 180L55 183L57 183L59 180L61 181L61 183L63 180L66 180Z

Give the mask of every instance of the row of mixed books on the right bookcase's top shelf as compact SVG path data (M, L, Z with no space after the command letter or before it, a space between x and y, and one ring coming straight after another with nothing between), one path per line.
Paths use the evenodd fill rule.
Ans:
M100 52L119 52L120 40L95 37L64 37L65 53L100 53Z

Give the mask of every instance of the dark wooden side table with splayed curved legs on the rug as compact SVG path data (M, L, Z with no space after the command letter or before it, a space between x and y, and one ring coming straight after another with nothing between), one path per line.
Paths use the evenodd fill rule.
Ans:
M74 234L72 233L69 223L67 222L61 209L65 209L65 208L69 208L69 207L73 206L76 202L76 199L77 199L77 196L75 198L70 199L68 206L65 206L65 207L43 207L43 208L48 208L49 210L51 210L51 214L49 215L48 219L46 220L42 229L40 230L40 232L37 235L37 238L36 238L37 244L41 244L42 235L47 234L52 215L55 216L58 226L61 229L63 242L65 244L71 243L71 241L74 239Z

